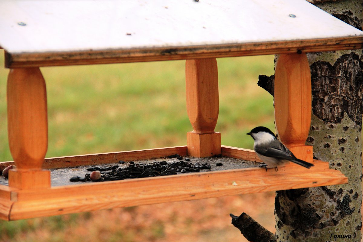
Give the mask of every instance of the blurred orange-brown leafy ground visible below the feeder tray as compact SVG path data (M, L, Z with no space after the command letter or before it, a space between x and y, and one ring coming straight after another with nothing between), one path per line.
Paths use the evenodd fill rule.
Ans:
M244 242L229 213L245 212L274 233L273 211L274 192L172 202L7 222L0 241Z

